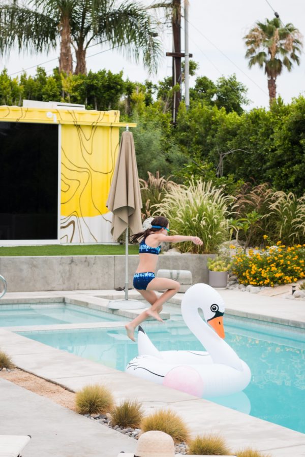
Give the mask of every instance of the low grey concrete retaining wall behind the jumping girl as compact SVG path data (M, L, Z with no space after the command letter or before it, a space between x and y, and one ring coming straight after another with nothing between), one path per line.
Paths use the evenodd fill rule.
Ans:
M193 284L208 281L206 262L212 255L160 255L159 269L190 270ZM138 255L128 258L129 284ZM0 257L0 274L8 292L39 290L97 290L125 285L124 255Z

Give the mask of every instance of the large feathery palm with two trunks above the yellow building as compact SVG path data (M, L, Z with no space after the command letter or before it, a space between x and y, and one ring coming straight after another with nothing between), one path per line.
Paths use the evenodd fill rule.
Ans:
M59 70L72 73L72 47L76 53L75 73L86 73L86 50L91 44L110 43L127 56L157 69L160 41L149 14L126 0L30 0L31 9L10 0L0 4L0 52L48 52L60 43Z

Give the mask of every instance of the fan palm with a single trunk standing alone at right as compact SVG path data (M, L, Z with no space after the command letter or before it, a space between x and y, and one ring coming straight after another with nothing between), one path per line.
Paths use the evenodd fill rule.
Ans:
M256 22L246 40L248 50L246 57L249 58L249 67L256 63L262 68L268 78L268 90L270 104L276 98L276 79L282 73L283 67L290 72L293 62L299 65L297 53L301 52L301 34L292 24L282 26L281 20L275 18Z

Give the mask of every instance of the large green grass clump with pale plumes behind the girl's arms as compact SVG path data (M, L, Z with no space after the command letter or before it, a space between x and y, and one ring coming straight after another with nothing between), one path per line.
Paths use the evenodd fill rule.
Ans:
M202 246L191 241L176 243L182 252L214 253L229 238L227 205L232 200L233 197L212 186L211 181L192 180L188 187L171 187L155 215L169 219L173 235L193 235L202 239Z

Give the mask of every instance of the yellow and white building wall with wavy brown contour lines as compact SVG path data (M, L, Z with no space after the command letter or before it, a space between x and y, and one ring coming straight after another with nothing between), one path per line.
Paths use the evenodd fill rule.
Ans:
M51 103L51 102L50 102ZM0 107L0 122L58 124L63 243L112 242L106 201L119 146L119 111ZM134 126L134 124L129 124ZM47 140L47 139L46 139Z

